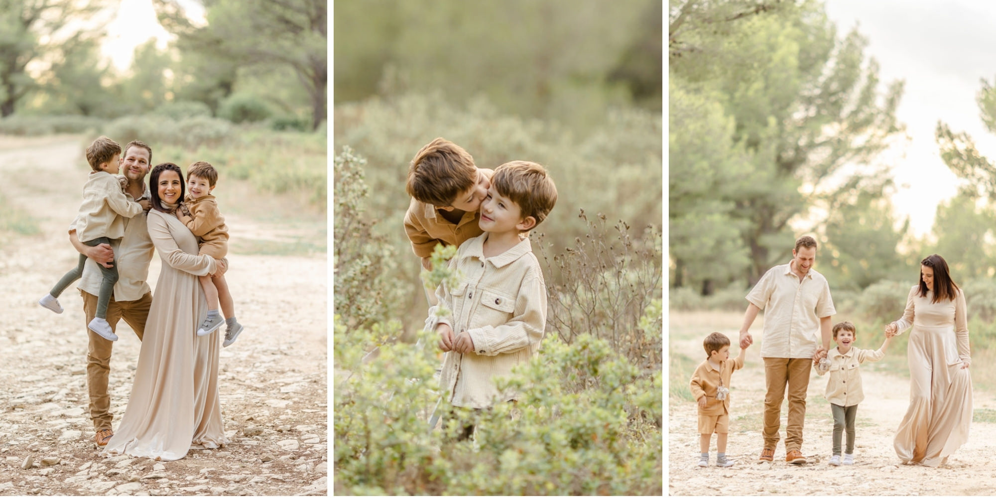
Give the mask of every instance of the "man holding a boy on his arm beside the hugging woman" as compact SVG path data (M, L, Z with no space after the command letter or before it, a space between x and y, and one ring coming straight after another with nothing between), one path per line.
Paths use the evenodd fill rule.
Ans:
M132 140L124 146L121 161L122 173L127 178L124 193L128 200L151 200L148 188L145 187L145 175L148 174L151 159L152 149L139 140ZM118 283L115 284L111 302L108 304L108 323L114 331L118 321L124 320L141 341L145 332L145 319L148 318L148 309L152 304L152 292L145 279L148 277L148 265L155 252L145 225L145 213L124 218L124 237L113 245L101 244L90 247L83 244L77 238L75 220L70 225L69 238L76 250L88 258L83 269L83 277L77 286L80 295L83 296L86 323L89 324L97 314L97 295L101 288L101 271L97 267L98 263L109 268L118 265ZM90 329L87 329L87 333L90 335L90 345L87 348L90 417L94 420L94 430L97 432L94 440L98 446L104 446L114 435L111 429L114 413L110 411L111 395L108 394L111 351L114 343Z

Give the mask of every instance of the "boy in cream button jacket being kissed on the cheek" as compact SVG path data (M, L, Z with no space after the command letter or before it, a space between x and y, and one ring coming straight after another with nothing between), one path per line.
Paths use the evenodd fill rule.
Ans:
M445 352L440 383L453 406L483 409L516 399L494 377L536 354L546 324L543 271L523 235L541 223L557 202L557 187L543 166L512 161L498 166L481 203L482 235L460 245L449 262L462 280L436 290L429 326ZM437 313L440 308L448 314ZM464 427L461 438L473 430Z

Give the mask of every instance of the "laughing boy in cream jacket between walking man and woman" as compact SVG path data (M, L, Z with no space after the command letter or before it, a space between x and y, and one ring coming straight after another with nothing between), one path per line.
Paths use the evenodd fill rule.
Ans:
M844 452L844 464L855 463L855 417L858 415L858 403L865 399L862 390L862 374L858 366L865 362L877 362L885 356L885 348L891 338L885 336L881 348L875 351L859 350L852 347L858 331L855 324L841 322L834 326L834 341L837 349L830 350L826 361L816 364L816 373L830 373L827 379L827 400L834 413L834 448L830 457L831 465L841 462L841 433L848 433L848 447Z

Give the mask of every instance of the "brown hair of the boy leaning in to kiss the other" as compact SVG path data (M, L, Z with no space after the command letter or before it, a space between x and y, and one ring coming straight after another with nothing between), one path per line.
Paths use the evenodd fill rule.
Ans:
M477 174L474 158L463 147L438 137L411 159L404 189L419 202L445 207L477 183Z

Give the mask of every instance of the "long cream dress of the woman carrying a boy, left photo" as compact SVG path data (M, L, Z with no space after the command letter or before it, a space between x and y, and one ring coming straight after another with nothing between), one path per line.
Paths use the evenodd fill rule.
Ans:
M148 234L162 269L148 311L137 370L121 425L104 456L183 458L191 447L227 443L218 400L218 336L196 337L207 315L197 275L215 271L176 216L148 212Z

